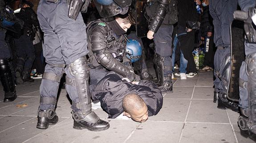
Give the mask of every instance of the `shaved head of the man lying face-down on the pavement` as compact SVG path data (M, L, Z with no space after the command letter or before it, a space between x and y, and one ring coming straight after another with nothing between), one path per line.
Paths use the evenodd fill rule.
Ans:
M134 121L145 122L148 118L147 106L137 94L128 94L122 100L122 106L126 116Z

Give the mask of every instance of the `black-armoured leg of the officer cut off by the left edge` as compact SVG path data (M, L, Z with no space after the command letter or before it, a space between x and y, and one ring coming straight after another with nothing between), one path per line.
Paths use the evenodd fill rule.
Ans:
M17 97L16 85L12 73L12 65L8 61L8 58L11 57L10 49L4 38L4 31L0 31L0 80L4 86L4 102L12 102Z

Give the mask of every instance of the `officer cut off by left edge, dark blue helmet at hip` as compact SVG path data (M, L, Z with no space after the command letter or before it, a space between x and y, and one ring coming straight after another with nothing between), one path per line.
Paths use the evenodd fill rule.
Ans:
M10 49L5 42L5 32L8 30L15 32L15 26L22 27L23 21L17 19L13 10L5 6L4 0L0 1L0 80L4 86L4 102L12 102L16 99L16 83L12 73ZM19 27L20 26L20 27Z

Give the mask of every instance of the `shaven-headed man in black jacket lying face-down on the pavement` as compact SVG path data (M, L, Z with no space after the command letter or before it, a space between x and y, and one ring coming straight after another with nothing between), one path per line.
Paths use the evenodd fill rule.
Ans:
M118 74L109 72L92 90L93 103L100 101L109 118L123 115L136 122L145 122L148 116L158 114L163 106L163 96L150 81L134 83L123 81Z

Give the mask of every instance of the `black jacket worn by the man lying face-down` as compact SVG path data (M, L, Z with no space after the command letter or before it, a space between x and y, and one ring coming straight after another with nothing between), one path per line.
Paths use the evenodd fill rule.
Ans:
M157 86L150 81L140 81L138 85L133 85L122 79L114 72L106 74L98 82L92 91L93 101L100 100L104 111L109 114L109 118L116 118L123 111L122 99L128 94L139 95L147 105L148 116L156 115L163 106L163 96Z

